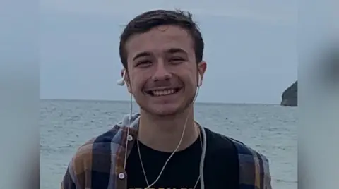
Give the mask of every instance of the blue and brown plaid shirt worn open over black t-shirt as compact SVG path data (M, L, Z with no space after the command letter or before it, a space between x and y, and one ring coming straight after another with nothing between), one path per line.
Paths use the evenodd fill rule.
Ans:
M126 150L128 157L136 140L137 123L138 118L130 126L127 149L127 127L121 125L79 147L67 168L61 189L126 189L124 157ZM239 189L271 189L268 159L242 142L231 140L239 154Z

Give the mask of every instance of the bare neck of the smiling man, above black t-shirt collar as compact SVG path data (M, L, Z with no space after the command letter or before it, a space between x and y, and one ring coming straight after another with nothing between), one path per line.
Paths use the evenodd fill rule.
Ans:
M181 138L182 142L177 151L184 150L196 141L199 133L200 130L194 121L193 106L182 114L168 117L153 116L141 111L138 138L140 142L154 150L173 152Z

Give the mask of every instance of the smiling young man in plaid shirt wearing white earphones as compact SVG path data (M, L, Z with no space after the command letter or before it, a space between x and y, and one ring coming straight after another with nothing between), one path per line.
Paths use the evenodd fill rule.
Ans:
M131 20L121 35L121 75L140 114L81 146L61 188L201 188L204 134L204 188L270 189L266 157L194 121L203 47L190 13L148 11Z

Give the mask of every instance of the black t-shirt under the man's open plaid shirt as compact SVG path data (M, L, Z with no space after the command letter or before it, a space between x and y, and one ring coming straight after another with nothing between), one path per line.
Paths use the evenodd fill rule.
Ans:
M206 130L206 157L204 166L205 189L239 188L239 159L237 150L232 141L223 135ZM139 142L143 166L151 184L157 179L165 161L171 153L153 150ZM190 147L176 152L169 160L160 179L151 188L182 189L194 188L199 176L201 159L201 138L198 138ZM128 188L146 188L145 176L135 143L126 164ZM196 189L200 188L200 181Z

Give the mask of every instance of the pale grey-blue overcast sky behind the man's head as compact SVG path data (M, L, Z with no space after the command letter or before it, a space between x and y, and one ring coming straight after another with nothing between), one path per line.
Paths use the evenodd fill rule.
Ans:
M213 2L213 3L212 3ZM119 35L155 8L194 13L208 70L198 102L280 103L297 79L297 1L40 1L40 97L129 100Z

